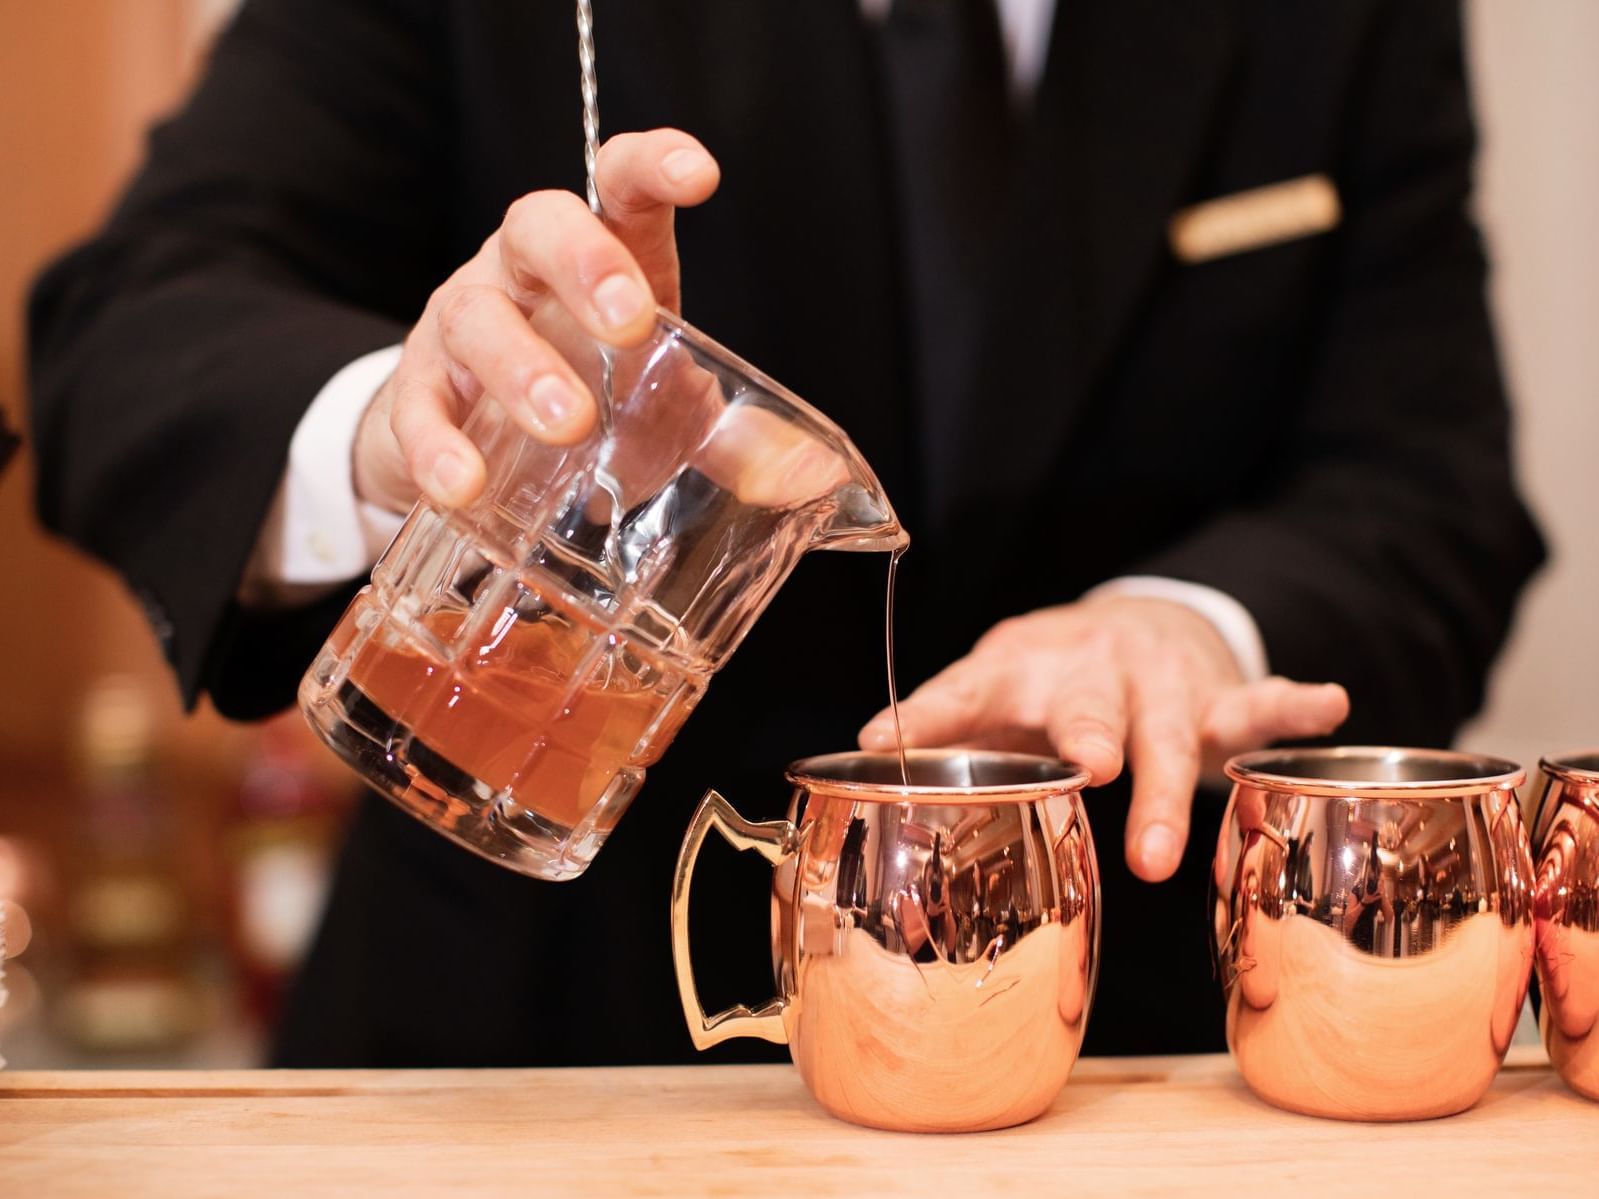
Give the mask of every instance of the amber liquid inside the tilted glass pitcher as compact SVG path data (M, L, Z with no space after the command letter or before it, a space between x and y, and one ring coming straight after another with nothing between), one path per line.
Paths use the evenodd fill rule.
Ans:
M480 819L456 793L492 798L502 822L531 820L558 836L604 836L622 815L704 679L614 631L588 628L547 596L539 619L504 609L481 644L454 655L429 643L459 641L464 614L430 612L417 622L419 636L376 604L366 609L365 623L377 627L355 652L339 699L377 734L374 750L392 761L403 743L413 767L393 772L390 793L401 804L448 828ZM363 600L334 644L358 635ZM608 798L620 803L595 814Z

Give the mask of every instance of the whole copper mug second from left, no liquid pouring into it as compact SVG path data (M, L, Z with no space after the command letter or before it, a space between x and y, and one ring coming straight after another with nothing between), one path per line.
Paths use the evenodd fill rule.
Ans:
M1311 1116L1476 1103L1532 969L1514 763L1444 750L1266 750L1226 764L1212 934L1250 1089Z

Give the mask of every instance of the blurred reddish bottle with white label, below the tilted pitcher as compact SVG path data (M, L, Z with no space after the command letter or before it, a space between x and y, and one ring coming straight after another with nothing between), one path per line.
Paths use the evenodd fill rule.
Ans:
M261 726L229 822L230 942L246 1014L270 1026L317 930L341 806L297 715Z

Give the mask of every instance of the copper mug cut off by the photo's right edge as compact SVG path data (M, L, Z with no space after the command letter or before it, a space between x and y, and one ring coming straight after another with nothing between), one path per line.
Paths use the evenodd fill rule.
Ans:
M1599 750L1538 764L1538 1025L1565 1084L1599 1098Z

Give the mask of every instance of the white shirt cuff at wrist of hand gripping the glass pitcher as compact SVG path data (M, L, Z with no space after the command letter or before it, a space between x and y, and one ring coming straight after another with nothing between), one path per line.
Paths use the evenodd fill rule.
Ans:
M294 427L283 481L240 584L245 604L310 603L366 574L405 524L405 515L357 497L352 467L361 416L400 353L390 345L344 366Z

